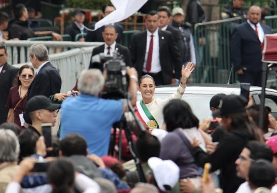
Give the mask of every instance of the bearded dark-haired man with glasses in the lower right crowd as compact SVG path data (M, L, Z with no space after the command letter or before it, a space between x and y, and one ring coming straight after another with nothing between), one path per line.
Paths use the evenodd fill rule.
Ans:
M269 147L266 146L266 144L259 141L249 141L235 161L237 176L243 179L247 179L249 167L254 161L258 159L264 159L272 162L272 156L272 151ZM252 191L249 186L249 182L246 181L241 184L236 192L251 193Z

